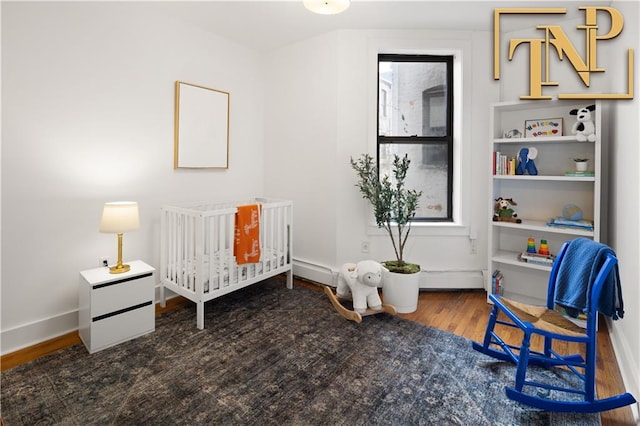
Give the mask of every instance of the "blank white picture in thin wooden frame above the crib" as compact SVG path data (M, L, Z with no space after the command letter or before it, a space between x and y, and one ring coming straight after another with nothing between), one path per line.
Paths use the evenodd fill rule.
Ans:
M229 168L229 93L175 83L173 168Z

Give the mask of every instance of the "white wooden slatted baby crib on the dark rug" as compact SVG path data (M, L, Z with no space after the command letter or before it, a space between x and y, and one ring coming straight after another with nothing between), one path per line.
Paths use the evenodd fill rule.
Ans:
M233 254L237 206L261 207L260 260L238 265ZM253 198L230 203L164 206L160 219L160 304L166 289L196 303L196 322L204 328L204 303L232 291L287 273L293 288L293 203Z

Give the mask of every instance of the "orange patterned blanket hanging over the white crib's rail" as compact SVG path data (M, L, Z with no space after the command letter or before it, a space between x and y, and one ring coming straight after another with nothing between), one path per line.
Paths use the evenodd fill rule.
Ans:
M238 206L233 245L233 255L236 257L238 265L260 261L259 218L260 206L258 204Z

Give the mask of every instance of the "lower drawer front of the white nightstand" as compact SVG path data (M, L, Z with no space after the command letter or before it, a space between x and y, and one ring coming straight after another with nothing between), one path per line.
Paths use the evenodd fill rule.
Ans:
M155 307L151 303L97 321L92 320L91 352L152 332L155 329L154 315Z

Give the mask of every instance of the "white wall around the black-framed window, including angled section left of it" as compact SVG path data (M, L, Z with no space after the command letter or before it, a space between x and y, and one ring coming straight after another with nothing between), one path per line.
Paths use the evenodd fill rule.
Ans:
M462 55L465 76L456 87L462 92L463 111L456 140L458 223L414 227L406 258L427 271L423 287L445 287L450 278L465 281L454 282L457 287L482 286L483 224L489 214L481 195L488 184L484 160L490 158L487 105L498 99L486 55L490 41L488 32L338 31L270 56L266 99L275 103L265 112L266 185L267 192L284 189L293 194L298 236L294 256L305 261L297 265L297 274L331 283L331 272L342 263L393 257L388 236L375 227L369 206L354 186L349 164L350 157L376 150L376 55L454 47L458 57ZM361 252L362 241L370 242L369 253ZM443 273L455 276L445 279Z

